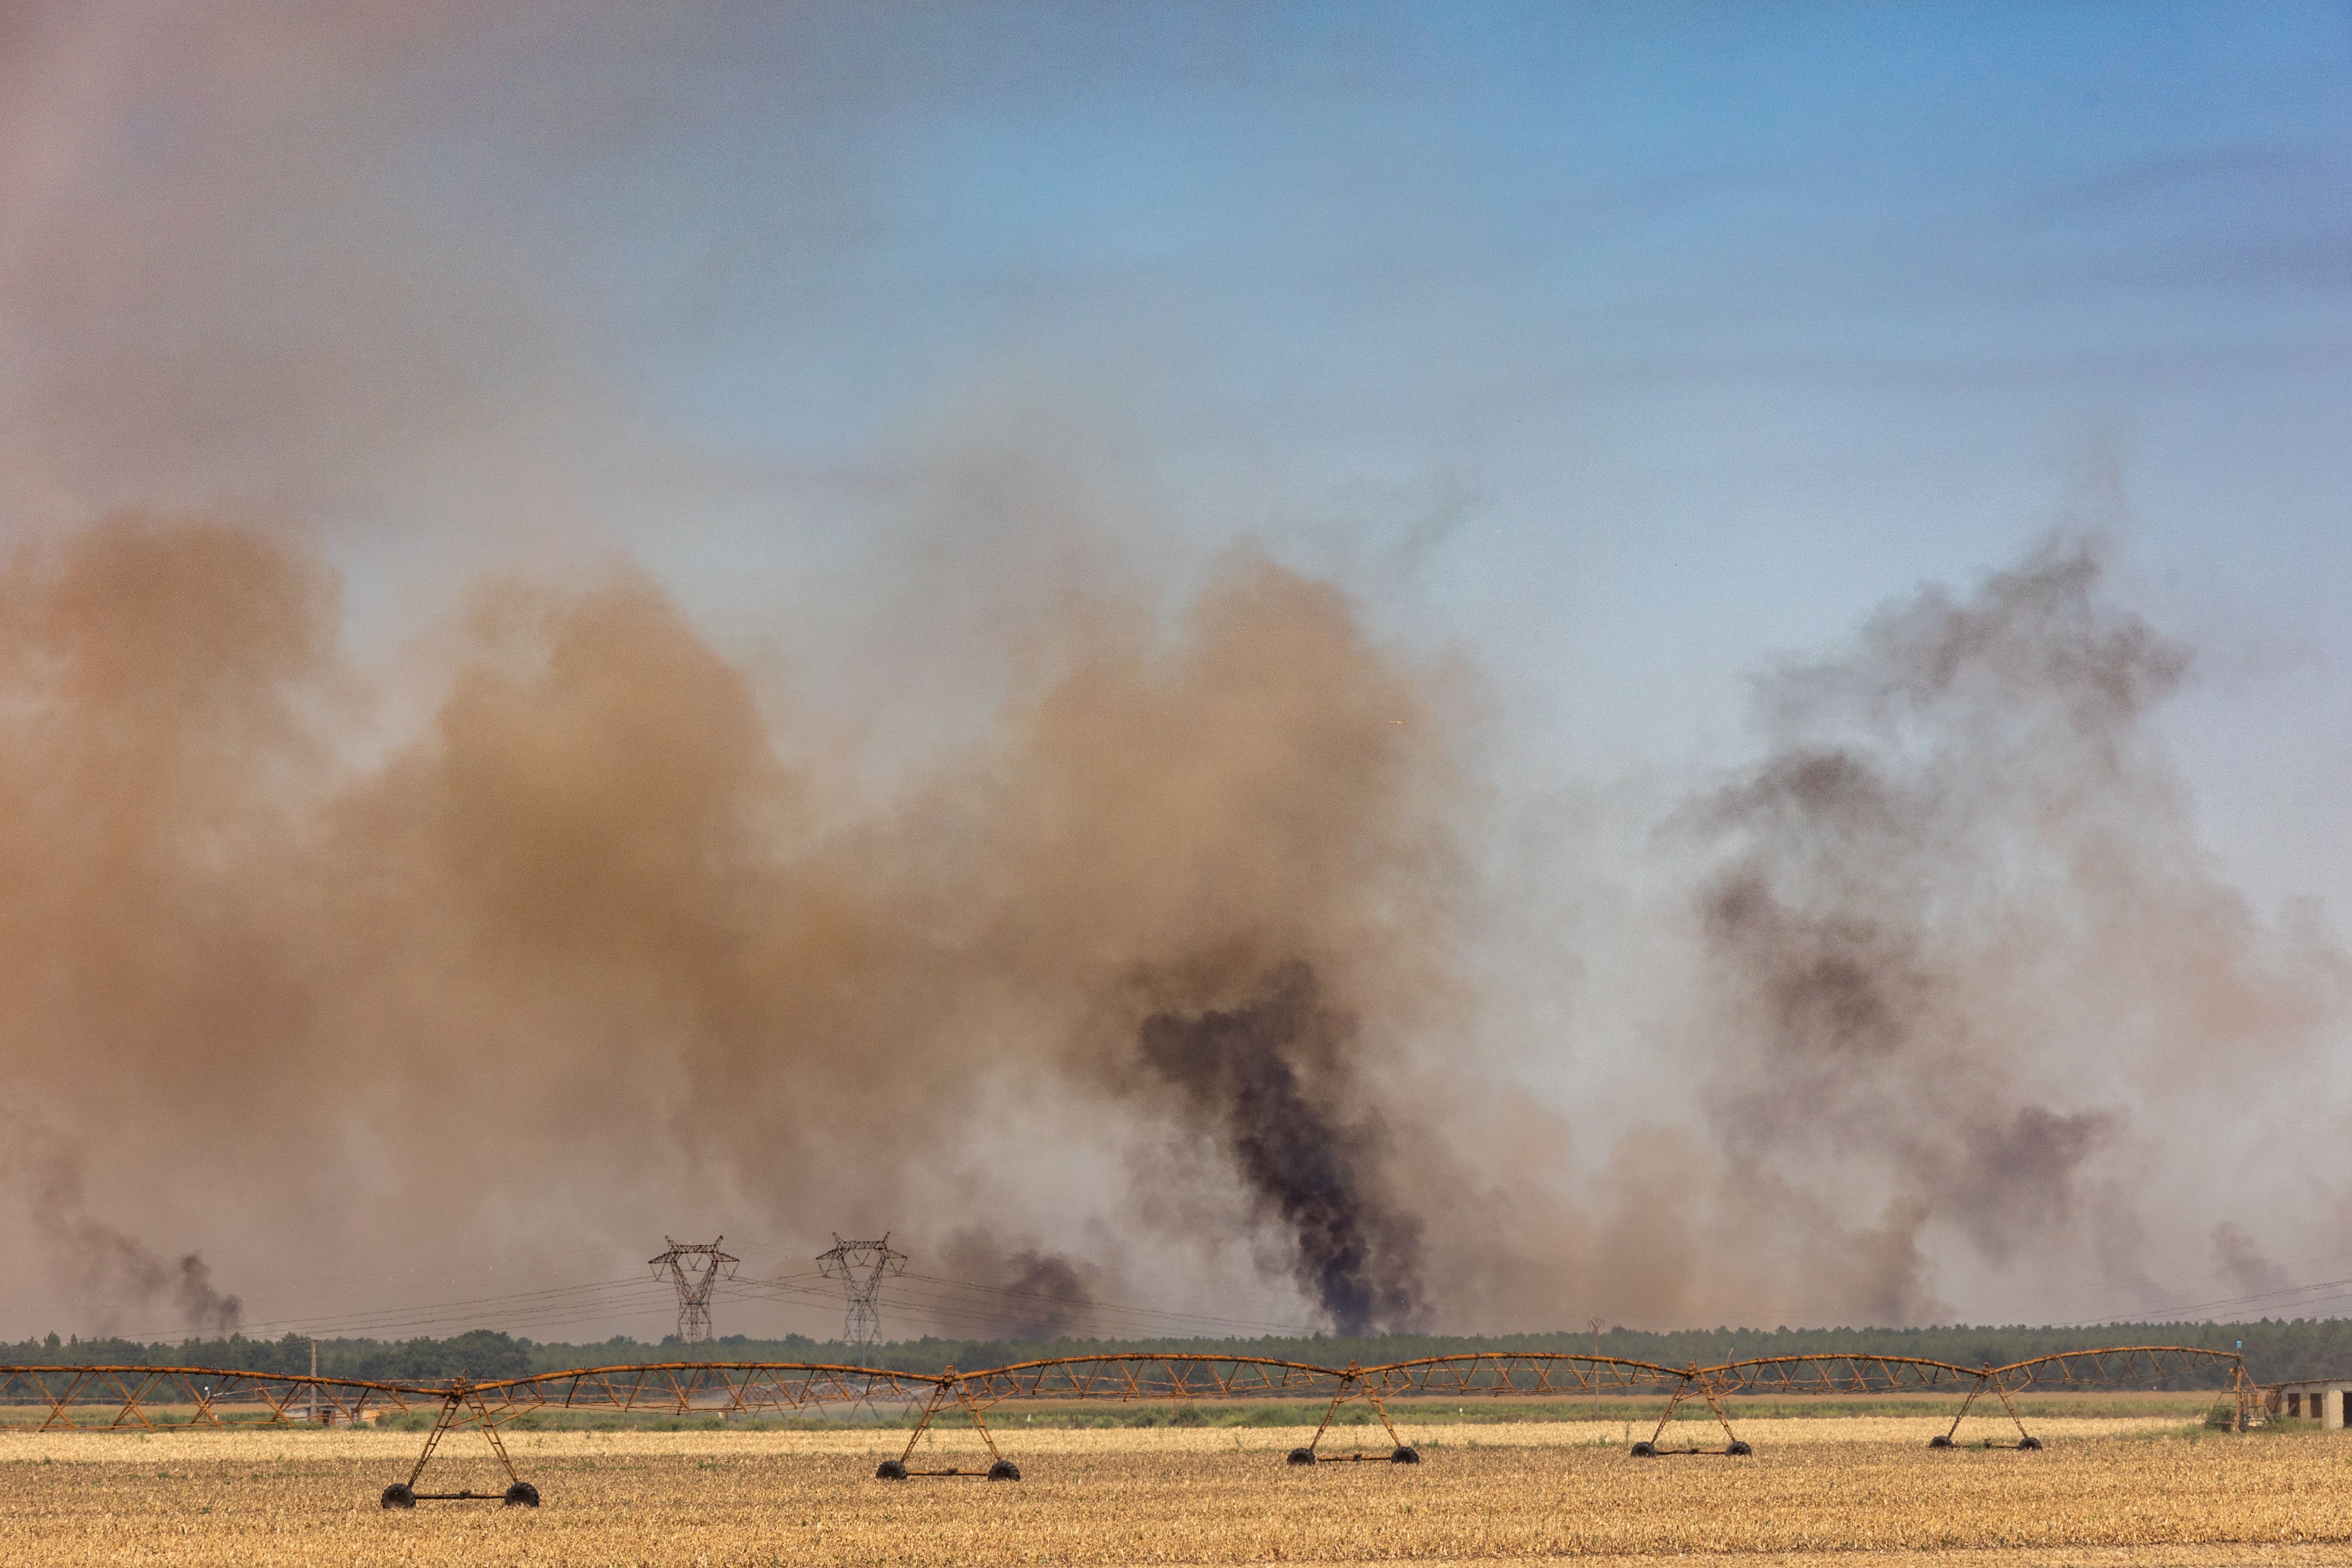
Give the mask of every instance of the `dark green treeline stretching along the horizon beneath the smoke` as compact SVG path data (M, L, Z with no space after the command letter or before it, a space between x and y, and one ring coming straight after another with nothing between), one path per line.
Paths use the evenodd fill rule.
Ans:
M2258 1382L2293 1378L2352 1375L2352 1319L2286 1319L2258 1324L2107 1324L2103 1328L2027 1328L1966 1326L1950 1328L1693 1328L1646 1333L1611 1328L1599 1338L1602 1354L1663 1366L1691 1361L1712 1366L1745 1356L1788 1356L1811 1352L1865 1352L1891 1356L1929 1356L1959 1366L2006 1363L2058 1349L2098 1345L2194 1345L2234 1349L2244 1342L2246 1371ZM1270 1356L1348 1366L1357 1361L1406 1361L1491 1349L1590 1352L1590 1333L1517 1333L1494 1338L1446 1335L1376 1335L1376 1338L1268 1338L1268 1340L894 1340L863 1354L842 1345L788 1335L753 1340L724 1335L691 1352L696 1361L837 1361L906 1373L936 1373L948 1366L967 1371L1033 1361L1042 1356L1080 1356L1108 1352L1195 1352L1223 1356ZM334 1378L402 1382L412 1378L522 1378L572 1366L623 1366L633 1361L689 1359L677 1338L659 1345L640 1340L604 1340L602 1345L541 1345L477 1328L447 1340L320 1340L318 1371ZM219 1366L256 1373L310 1371L310 1340L186 1340L179 1345L139 1345L132 1340L24 1340L0 1342L0 1363L111 1363L111 1366ZM2218 1385L2220 1378L2185 1382Z

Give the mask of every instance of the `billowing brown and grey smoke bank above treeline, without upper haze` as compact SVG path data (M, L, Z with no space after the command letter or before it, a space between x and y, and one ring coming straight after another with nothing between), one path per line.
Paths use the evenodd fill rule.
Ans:
M626 567L480 583L383 672L280 536L19 550L0 1027L54 1276L219 1324L261 1302L207 1255L268 1237L626 1253L687 1215L760 1272L891 1229L1051 1331L1152 1258L1350 1331L1919 1321L1938 1269L2147 1286L2150 1133L2246 1114L2246 1063L2340 1013L2331 950L2190 849L2145 724L2180 651L2051 548L1762 684L1764 757L1672 816L1682 914L1632 922L1679 1006L1590 1025L1653 1093L1581 1119L1578 1175L1468 978L1458 677L1249 552L1141 604L1075 607L976 741L844 811L851 764ZM428 703L386 738L395 679Z

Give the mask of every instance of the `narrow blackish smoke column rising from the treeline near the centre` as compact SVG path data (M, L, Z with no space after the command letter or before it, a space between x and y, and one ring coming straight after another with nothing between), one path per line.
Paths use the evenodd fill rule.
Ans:
M1341 1333L1402 1328L1421 1314L1421 1234L1376 1190L1378 1126L1348 1124L1355 1023L1319 1004L1315 971L1284 964L1256 1001L1230 1011L1155 1013L1143 1060L1232 1159L1261 1213L1298 1246L1298 1281Z

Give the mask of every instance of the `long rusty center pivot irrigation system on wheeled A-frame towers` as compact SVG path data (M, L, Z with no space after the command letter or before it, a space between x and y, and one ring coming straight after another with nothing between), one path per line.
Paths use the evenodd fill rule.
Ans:
M1929 1448L1952 1448L1959 1422L1983 1394L2002 1401L2018 1429L2013 1443L1985 1448L2039 1448L2025 1432L2011 1399L2025 1389L2112 1389L2152 1385L2166 1378L2227 1373L2230 1429L2258 1420L2263 1389L2246 1380L2237 1352L2192 1349L2183 1345L2119 1345L2112 1349L2070 1349L2006 1366L1957 1366L1922 1356L1757 1356L1719 1366L1661 1366L1623 1356L1581 1356L1550 1352L1475 1352L1458 1356L1423 1356L1383 1366L1315 1366L1265 1356L1192 1356L1192 1354L1103 1354L1016 1361L981 1373L953 1366L938 1373L896 1373L877 1366L826 1366L818 1361L656 1361L642 1366L595 1366L536 1378L468 1378L426 1382L365 1382L358 1378L301 1378L285 1373L240 1373L202 1366L0 1366L0 1406L47 1406L42 1432L49 1429L158 1429L158 1427L230 1427L294 1425L308 1420L360 1422L383 1410L437 1408L426 1446L407 1481L383 1488L383 1507L409 1509L419 1502L503 1500L510 1507L539 1507L539 1488L515 1472L499 1439L499 1427L517 1415L541 1410L633 1410L661 1415L757 1415L802 1413L811 1408L873 1408L903 1403L915 1413L906 1448L896 1460L882 1460L875 1476L906 1481L910 1476L985 1476L1018 1481L1021 1467L1004 1458L985 1413L1009 1399L1115 1399L1115 1401L1192 1401L1192 1399L1319 1399L1322 1422L1315 1436L1289 1450L1291 1465L1364 1462L1418 1465L1421 1453L1397 1434L1388 1401L1392 1399L1543 1399L1569 1394L1665 1394L1656 1429L1632 1446L1635 1458L1668 1455L1745 1455L1755 1453L1731 1429L1724 1399L1733 1394L1959 1394L1952 1427ZM1722 1448L1663 1446L1668 1422L1691 1399L1703 1399L1724 1429ZM1364 1403L1388 1429L1388 1453L1322 1453L1324 1434L1348 1403ZM957 1410L981 1434L990 1465L985 1469L913 1469L915 1446L943 1410ZM456 1427L475 1427L506 1472L503 1493L421 1493L416 1483L433 1462L442 1436Z

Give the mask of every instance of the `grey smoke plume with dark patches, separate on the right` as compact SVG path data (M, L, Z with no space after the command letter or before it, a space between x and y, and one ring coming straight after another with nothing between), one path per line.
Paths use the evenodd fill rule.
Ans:
M2100 1157L2317 1016L2183 853L2147 715L2185 665L2051 545L1762 684L1771 750L1700 809L1708 1110L1755 1222L1900 1239L1832 1248L1842 1298L1940 1314L1931 1227L1983 1265L2131 1246Z

